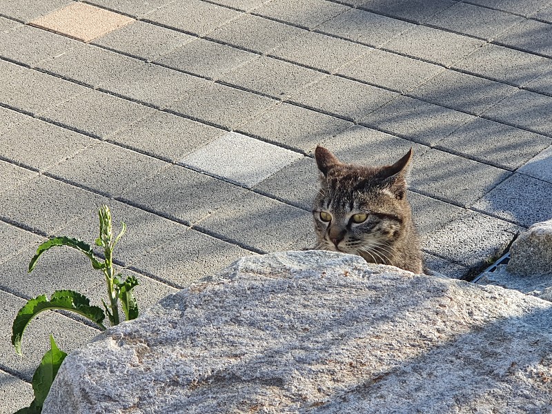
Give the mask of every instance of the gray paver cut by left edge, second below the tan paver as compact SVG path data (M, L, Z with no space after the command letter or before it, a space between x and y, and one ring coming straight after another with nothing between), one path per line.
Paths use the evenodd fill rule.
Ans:
M84 86L7 61L0 61L0 74L0 101L33 115L88 92Z

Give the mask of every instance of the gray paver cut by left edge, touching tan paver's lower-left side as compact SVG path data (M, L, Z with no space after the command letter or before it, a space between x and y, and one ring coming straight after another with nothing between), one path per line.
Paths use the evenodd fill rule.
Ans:
M22 25L9 32L0 32L0 56L28 66L81 46L69 39L39 28Z

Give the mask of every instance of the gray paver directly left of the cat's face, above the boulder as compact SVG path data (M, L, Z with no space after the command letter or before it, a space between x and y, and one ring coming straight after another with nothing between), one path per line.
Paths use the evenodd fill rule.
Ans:
M311 213L256 193L231 200L198 227L264 252L315 244Z

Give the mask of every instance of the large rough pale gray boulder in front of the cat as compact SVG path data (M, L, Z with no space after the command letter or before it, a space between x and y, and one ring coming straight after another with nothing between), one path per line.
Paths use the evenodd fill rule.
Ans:
M551 321L352 255L248 257L72 353L43 413L544 413Z

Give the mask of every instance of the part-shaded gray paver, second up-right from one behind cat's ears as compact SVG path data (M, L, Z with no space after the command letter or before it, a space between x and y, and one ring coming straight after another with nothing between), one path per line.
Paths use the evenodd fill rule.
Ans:
M480 115L517 88L473 75L446 70L412 92L414 97Z

